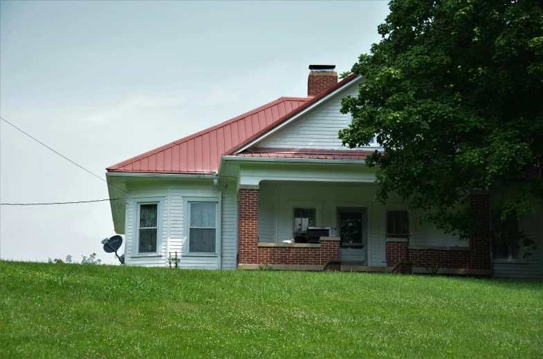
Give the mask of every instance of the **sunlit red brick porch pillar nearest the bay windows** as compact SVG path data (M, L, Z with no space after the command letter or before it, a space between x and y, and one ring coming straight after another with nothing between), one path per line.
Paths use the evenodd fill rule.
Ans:
M238 264L258 262L258 194L258 186L239 188Z

